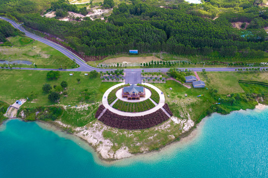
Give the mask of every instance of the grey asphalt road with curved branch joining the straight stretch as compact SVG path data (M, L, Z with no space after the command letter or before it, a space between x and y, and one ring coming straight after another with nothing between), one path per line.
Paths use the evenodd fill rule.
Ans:
M10 20L8 18L5 17L1 17L1 19L11 23L13 25L14 28L20 30L21 32L25 33L25 35L27 37L30 37L34 40L37 40L39 42L42 42L46 45L49 45L51 47L53 47L54 49L60 51L61 53L63 53L64 55L66 55L67 57L69 57L70 59L74 59L76 61L77 64L80 65L80 67L75 68L75 69L61 69L60 71L81 71L81 72L88 72L88 71L92 71L92 70L96 70L98 72L103 71L112 71L114 69L101 69L101 68L96 68L96 67L92 67L88 64L86 64L81 58L79 58L78 56L76 56L75 54L73 54L71 51L69 51L68 49L64 48L61 45L58 45L54 42L51 42L47 39L44 39L40 36L37 36L35 34L32 34L28 31L26 31L25 29L23 29L19 24L17 24L16 22L14 22L13 20ZM236 69L246 69L249 67L206 67L206 68L187 68L188 70L192 70L192 71L196 71L196 72L200 72L202 71L202 69L206 69L206 71L208 72L221 72L221 71L236 71ZM257 67L251 67L251 68L257 68ZM268 67L260 67L260 69L267 69ZM59 69L41 69L41 68L15 68L15 69L23 69L23 70L59 70ZM140 68L140 69L124 69L125 72L141 72L142 70L144 70L144 72L166 72L168 71L169 68ZM185 68L179 68L181 70L185 69Z

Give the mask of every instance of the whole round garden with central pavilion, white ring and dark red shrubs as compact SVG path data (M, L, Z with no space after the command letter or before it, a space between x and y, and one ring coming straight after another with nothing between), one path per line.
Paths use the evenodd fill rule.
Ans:
M163 92L147 83L120 83L107 89L95 115L107 126L128 130L151 128L171 116Z

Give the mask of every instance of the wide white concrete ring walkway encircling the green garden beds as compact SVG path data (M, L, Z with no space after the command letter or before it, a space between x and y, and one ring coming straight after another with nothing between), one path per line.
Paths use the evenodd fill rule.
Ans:
M146 114L154 113L154 112L156 112L157 110L159 110L159 109L161 109L161 108L163 107L165 98L164 98L164 94L161 94L162 91L161 91L159 88L157 88L157 87L155 87L155 86L153 86L153 85L151 85L151 84L142 83L142 85L151 87L152 89L155 89L155 90L159 93L160 101L159 101L159 104L158 104L156 107L154 107L154 108L152 108L152 109L150 109L150 110L147 110L147 111L144 111L144 112L138 112L138 113L122 112L122 111L118 111L118 110L112 108L112 107L108 104L108 98L107 98L107 97L108 97L108 94L109 94L113 89L115 89L115 88L117 88L117 87L120 87L120 86L122 86L122 85L125 85L125 83L117 84L117 85L115 85L115 86L113 86L113 87L107 89L107 91L106 91L106 92L104 93L104 95L103 95L103 105L104 105L105 108L107 108L107 109L110 110L111 112L116 113L116 114L119 114L119 115L121 115L121 116L132 116L132 117L134 117L134 116L144 116L144 115L146 115Z

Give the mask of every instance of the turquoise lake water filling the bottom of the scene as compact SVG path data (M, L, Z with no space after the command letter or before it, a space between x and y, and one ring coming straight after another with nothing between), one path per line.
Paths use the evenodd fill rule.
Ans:
M160 152L106 164L79 140L9 120L0 128L0 178L268 177L268 108L213 114L195 132Z

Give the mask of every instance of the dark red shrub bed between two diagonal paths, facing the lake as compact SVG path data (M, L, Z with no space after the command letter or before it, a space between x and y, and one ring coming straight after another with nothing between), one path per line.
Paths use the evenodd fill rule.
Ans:
M110 112L108 109L99 119L104 124L118 129L148 129L166 121L168 116L161 110L144 116L121 116Z

